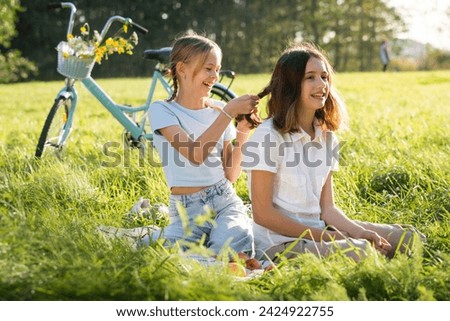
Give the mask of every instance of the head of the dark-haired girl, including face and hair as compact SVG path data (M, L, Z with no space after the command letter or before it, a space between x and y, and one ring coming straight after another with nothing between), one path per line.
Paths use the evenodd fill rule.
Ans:
M332 89L333 67L315 45L302 43L286 49L277 61L269 85L268 116L281 133L312 129L318 124L336 130L345 105Z

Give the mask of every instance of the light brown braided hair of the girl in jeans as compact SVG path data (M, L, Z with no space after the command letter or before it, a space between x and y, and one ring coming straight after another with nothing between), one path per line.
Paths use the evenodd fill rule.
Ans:
M195 33L185 34L175 39L172 47L172 53L170 54L170 71L173 79L173 93L168 101L175 99L178 93L177 63L188 63L192 61L192 58L200 55L202 57L198 66L198 68L200 68L200 66L205 63L208 54L213 49L217 50L217 53L222 55L222 50L219 45L217 45L214 41Z

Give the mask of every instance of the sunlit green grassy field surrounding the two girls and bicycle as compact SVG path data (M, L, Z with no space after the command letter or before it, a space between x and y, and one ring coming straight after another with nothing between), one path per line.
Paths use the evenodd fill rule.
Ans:
M268 75L241 75L238 94ZM145 101L148 79L99 81L119 102ZM449 300L450 71L338 74L349 130L338 133L338 205L352 218L414 224L428 241L412 257L356 264L302 255L258 278L189 262L175 249L132 248L99 225L124 220L141 196L165 204L161 168L108 142L122 129L78 87L75 129L61 160L33 159L61 82L0 85L0 300ZM236 183L248 200L245 176ZM164 217L156 219L164 220Z

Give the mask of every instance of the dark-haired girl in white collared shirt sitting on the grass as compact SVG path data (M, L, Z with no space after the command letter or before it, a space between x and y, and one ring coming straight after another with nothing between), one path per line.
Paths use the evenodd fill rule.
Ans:
M334 203L333 131L344 105L321 51L311 44L287 49L259 96L267 94L268 119L246 143L242 163L249 174L257 256L327 256L340 248L358 260L370 244L389 257L406 250L414 232L351 220Z

